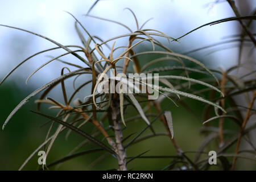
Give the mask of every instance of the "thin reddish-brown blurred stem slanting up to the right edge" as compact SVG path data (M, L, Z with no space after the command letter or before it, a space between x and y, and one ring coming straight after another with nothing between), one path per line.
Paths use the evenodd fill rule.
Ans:
M242 138L242 135L243 135L243 130L245 130L246 123L247 123L247 121L249 120L249 118L251 116L250 115L250 110L251 110L251 107L253 107L255 98L256 98L256 91L253 92L253 98L251 98L251 102L250 102L250 104L248 106L245 119L243 120L241 129L240 129L240 134L239 134L239 137L237 139L236 154L238 154L238 150L239 150L240 143L241 143L241 138ZM232 169L231 170L234 170L236 168L236 162L237 162L237 157L235 156L234 159L233 159L233 165L232 165Z

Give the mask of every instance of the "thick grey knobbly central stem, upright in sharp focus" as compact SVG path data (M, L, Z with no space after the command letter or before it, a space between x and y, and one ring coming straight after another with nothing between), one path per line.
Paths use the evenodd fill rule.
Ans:
M126 151L122 144L123 134L122 134L120 122L117 119L117 115L119 114L117 100L114 100L112 102L111 107L112 107L112 121L114 123L114 133L115 133L115 143L116 143L115 152L117 152L119 171L127 171Z

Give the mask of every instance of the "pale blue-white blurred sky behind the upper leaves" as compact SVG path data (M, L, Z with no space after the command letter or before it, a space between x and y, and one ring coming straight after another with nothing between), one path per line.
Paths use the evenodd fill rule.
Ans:
M104 40L128 33L125 28L117 24L86 17L84 14L87 13L93 2L94 0L0 1L0 24L37 32L63 45L81 45L74 27L75 20L64 12L69 11L82 22L90 34L98 35ZM90 14L125 23L135 31L135 20L128 10L124 10L126 7L134 11L139 24L149 18L154 18L144 28L157 29L174 38L202 24L234 16L227 2L214 3L214 0L102 0L97 3ZM172 42L171 46L174 50L187 52L194 48L220 42L225 36L237 34L237 27L239 26L238 22L207 26L185 36L180 40L180 43ZM0 36L1 78L28 56L43 49L55 47L47 40L6 27L0 27ZM117 46L123 45L125 40L121 39ZM110 45L112 43L110 42ZM223 47L225 48L225 46ZM237 63L236 48L211 53L213 50L199 52L206 61L214 60L214 63L210 63L211 67L228 69ZM63 51L52 51L36 56L15 71L10 80L15 78L18 84L25 84L25 80L30 73L49 60L46 55L57 56L59 53L63 53ZM108 54L108 51L106 51L106 54ZM193 55L189 56L193 57ZM74 60L72 56L66 56L63 60L65 59L72 59L74 63L79 64L79 61ZM51 81L60 75L61 66L59 62L53 61L36 73L28 82L28 85L40 86L42 83Z

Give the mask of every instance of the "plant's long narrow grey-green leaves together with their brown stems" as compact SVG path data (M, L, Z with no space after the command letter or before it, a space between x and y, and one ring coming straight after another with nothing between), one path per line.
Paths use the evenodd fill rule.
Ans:
M93 6L97 4L98 1L94 3ZM237 11L236 6L233 5L232 1L228 1L234 11ZM92 8L93 8L92 6ZM90 10L92 10L90 8ZM89 10L89 11L90 11ZM164 135L168 135L170 141L172 142L175 150L176 156L172 156L173 160L170 165L163 167L166 169L180 169L181 167L186 167L186 169L193 170L204 170L209 169L208 157L203 158L202 155L205 154L205 148L213 141L218 140L218 146L216 148L217 158L221 161L222 166L220 169L235 169L237 158L245 158L254 160L255 158L250 158L250 156L244 155L245 152L251 152L255 155L255 151L240 151L240 142L241 138L245 138L247 142L249 142L252 146L253 144L250 142L250 138L248 137L248 133L255 129L256 125L252 125L250 127L246 127L247 121L250 119L251 115L255 113L255 109L253 109L254 100L256 97L255 92L255 80L254 79L246 79L248 76L253 75L255 71L248 73L240 78L237 78L231 74L232 71L239 69L242 64L241 60L238 61L238 65L236 67L232 67L227 71L218 71L218 70L210 70L200 61L193 59L192 57L187 56L187 54L195 51L204 50L209 47L213 47L225 42L216 43L214 45L206 46L203 48L198 48L193 51L189 51L184 54L175 53L167 46L164 46L163 43L159 42L157 38L166 38L169 43L174 41L179 41L183 36L190 34L191 32L202 28L208 25L214 25L217 23L225 23L228 21L238 20L242 27L244 28L243 33L238 35L240 38L239 41L241 45L244 41L255 43L254 36L251 36L248 28L250 23L255 20L255 15L250 16L236 16L232 18L226 18L217 20L214 22L210 22L195 28L195 30L189 31L187 34L180 36L180 38L172 38L164 34L158 30L150 30L143 29L144 24L148 22L148 20L139 26L137 17L133 13L132 10L127 9L134 16L137 30L132 31L129 27L121 22L116 22L114 20L109 20L106 18L100 18L97 16L86 14L86 16L97 18L101 20L106 20L112 23L117 23L120 26L123 26L129 31L129 33L124 35L118 35L114 38L110 38L109 40L102 41L97 36L92 36L86 30L84 26L80 23L78 19L75 18L71 13L69 13L75 19L75 27L79 38L81 39L82 46L63 46L62 44L55 42L55 40L49 39L43 35L36 34L34 32L23 30L22 28L11 27L7 25L2 25L9 28L15 28L17 30L21 30L24 32L28 32L30 34L34 34L43 39L56 44L57 47L49 48L44 51L40 51L35 53L34 55L28 57L26 60L22 61L19 65L17 65L10 73L7 74L5 78L1 81L6 80L7 77L11 73L15 71L15 69L19 68L20 65L25 63L27 60L32 57L52 51L53 49L64 49L67 51L66 53L51 57L49 61L42 64L38 69L36 69L26 80L29 79L43 68L45 65L51 63L52 61L58 60L63 64L66 64L66 67L61 69L61 76L48 82L46 85L43 85L39 89L36 89L29 96L24 98L23 101L20 102L18 106L10 113L7 117L5 123L3 124L3 128L10 121L11 117L26 104L32 97L37 94L43 92L39 98L36 100L36 104L38 105L38 111L32 111L33 113L39 114L44 118L49 119L48 123L51 123L49 126L49 131L47 133L46 140L38 147L32 154L27 158L27 160L22 164L19 169L22 169L27 162L32 158L33 155L36 154L39 150L44 148L46 151L46 155L49 154L52 145L54 144L57 136L60 133L67 132L66 138L68 138L71 132L75 132L80 134L82 137L87 139L89 142L96 144L99 148L92 148L91 150L76 152L81 148L83 144L80 144L75 150L72 151L71 154L65 156L62 159L57 159L55 162L47 163L47 168L55 166L56 164L63 163L72 158L76 158L77 156L90 154L92 152L97 151L105 151L106 154L111 154L113 158L118 160L119 167L113 166L115 169L119 170L127 170L127 164L131 162L131 160L135 160L138 158L170 158L170 156L146 156L146 152L142 154L138 154L137 156L127 157L126 149L130 147L134 143L142 142L151 137L156 137L158 135L162 135L161 133L157 133L154 129L154 125L152 125L156 121L161 121L163 126L166 129L166 133ZM89 12L88 12L89 13ZM244 24L242 20L248 19L250 23ZM85 34L88 38L85 38ZM245 39L246 35L249 35L250 39ZM127 42L127 46L114 47L115 42L112 47L108 46L109 42L119 41L120 38L128 37L129 41ZM235 42L236 39L233 39L233 36L230 36L230 40L226 42ZM138 41L137 41L138 40ZM138 47L141 44L150 43L152 45L152 51L144 51L144 52L136 52L135 47ZM254 44L255 46L255 44ZM104 48L109 48L109 55L106 55L107 52ZM155 51L155 48L160 49L160 51ZM115 52L117 50L123 49L123 52L115 57ZM242 46L240 47L242 49ZM78 52L84 53L84 56L79 55ZM73 64L71 61L63 61L60 60L60 57L65 55L73 55L77 59L81 61L84 66ZM158 55L158 59L147 60L147 64L145 64L141 68L141 55ZM119 64L123 60L123 65ZM194 66L188 67L185 65L184 60L190 61ZM171 65L168 67L157 67L157 63L161 61L177 61L180 66ZM129 65L133 64L133 69L130 69ZM191 65L192 65L191 64ZM72 69L71 69L72 68ZM64 70L67 69L68 73L64 73ZM72 70L72 71L71 71ZM116 77L118 73L123 73L127 75L127 73L166 73L165 75L160 74L158 76L160 83L163 86L159 85L151 85L147 82L139 81L139 85L133 85L135 89L140 90L143 85L150 86L156 92L159 92L161 96L157 100L147 100L147 96L150 93L145 94L136 94L136 93L123 93L123 88L120 88L119 93L103 93L99 94L96 92L97 86L102 82L102 76L99 76L101 73L109 73L114 70L115 77L112 78L115 81L115 84L121 82L121 80ZM168 71L180 71L180 75L170 75ZM174 72L175 73L175 72ZM191 73L197 73L199 75L207 76L205 78L191 78ZM90 75L90 80L85 80L85 82L80 85L78 88L75 88L71 96L68 97L68 94L65 89L65 80L69 78L73 78L73 83L76 82L77 77L81 75ZM217 76L216 76L217 75ZM99 76L99 77L98 77ZM206 81L205 81L206 80ZM84 88L86 85L92 83L91 93L88 96L85 96L83 99L76 98L76 94ZM47 94L54 89L57 85L61 85L61 93L63 94L64 103L56 101L54 98L47 97ZM197 85L201 85L199 87L195 87ZM209 97L205 97L205 92L210 93ZM241 106L236 103L234 97L237 95L243 94L248 100L248 106ZM251 96L252 95L252 96ZM224 96L224 97L223 97ZM76 98L76 99L75 99ZM188 105L186 105L185 98L189 98L192 100L197 100L203 102L206 105L206 109L204 110L204 118L203 122L204 126L201 132L204 134L205 139L199 146L198 151L193 151L196 153L195 159L190 159L187 156L189 151L183 151L175 141L174 130L175 130L175 121L173 121L171 116L171 111L168 109L171 105L182 105L188 110L192 110ZM162 109L163 101L167 100L170 102L168 106ZM73 104L72 104L73 101ZM146 104L145 104L146 103ZM49 109L58 110L57 114L53 117L44 113L40 113L40 106L42 104L50 105ZM142 121L146 123L146 127L139 132L135 131L135 133L131 133L127 136L123 137L122 131L129 127L129 122L133 122L135 118L127 118L126 111L130 108L134 107L138 111L137 118L141 118ZM245 117L243 116L243 110L246 110ZM212 111L214 111L214 116L212 117ZM156 114L155 114L156 113ZM155 114L155 118L150 121L148 119L148 115ZM210 123L217 120L219 122L218 127L210 126ZM226 137L226 131L224 129L224 120L225 122L234 121L233 125L237 125L240 128L240 131L236 131L233 136ZM121 122L122 121L122 122ZM53 129L53 125L58 124L56 131L51 135L51 131ZM96 130L93 130L92 134L86 133L83 128L86 125L90 125L91 123ZM142 137L144 131L150 129L151 134L145 135ZM179 131L176 131L179 132ZM110 135L112 134L112 135ZM135 135L135 137L134 137ZM105 140L100 141L98 137L104 137ZM184 136L189 137L189 136ZM233 145L236 145L236 150L231 152L228 149ZM191 152L191 151L190 151ZM233 162L230 162L227 158L233 158ZM43 166L43 169L44 166Z

